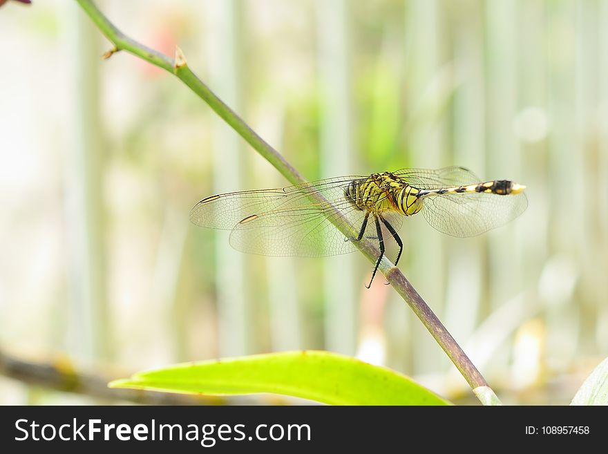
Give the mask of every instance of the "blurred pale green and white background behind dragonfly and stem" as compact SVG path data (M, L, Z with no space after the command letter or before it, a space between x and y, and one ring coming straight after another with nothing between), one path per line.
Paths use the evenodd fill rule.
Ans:
M310 179L468 167L527 186L475 238L422 216L400 263L507 404L567 404L608 356L608 2L99 0ZM467 402L361 254L266 258L189 223L286 182L73 1L0 8L0 349L136 370L294 349L356 355ZM392 256L392 255L391 255ZM461 400L459 400L461 399ZM82 403L0 377L0 403Z

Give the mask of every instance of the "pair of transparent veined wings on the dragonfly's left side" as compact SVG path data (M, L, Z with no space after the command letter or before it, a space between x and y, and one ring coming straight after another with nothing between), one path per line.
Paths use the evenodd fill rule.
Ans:
M278 189L220 194L193 207L190 218L201 227L231 229L230 245L266 256L331 256L357 249L338 226L359 234L365 211L346 200L345 187L368 177L345 176ZM398 229L401 216L386 218ZM377 240L373 220L364 236Z

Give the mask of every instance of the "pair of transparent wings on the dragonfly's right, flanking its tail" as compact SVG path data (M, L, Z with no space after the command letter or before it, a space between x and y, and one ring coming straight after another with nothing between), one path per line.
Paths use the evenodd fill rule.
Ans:
M397 172L417 189L475 185L482 180L464 167L403 169ZM428 224L451 236L475 236L517 218L528 206L523 192L498 195L485 192L446 193L424 199L422 214Z

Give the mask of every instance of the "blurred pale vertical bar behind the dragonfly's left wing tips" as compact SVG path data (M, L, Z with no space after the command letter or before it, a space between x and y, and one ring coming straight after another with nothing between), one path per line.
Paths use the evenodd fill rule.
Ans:
M209 78L218 95L237 112L243 111L240 67L243 61L243 1L225 0L208 4L211 27ZM220 118L213 117L213 192L239 189L243 180L242 141ZM251 320L245 292L243 254L216 242L216 291L218 310L218 354L231 357L252 351L249 345Z

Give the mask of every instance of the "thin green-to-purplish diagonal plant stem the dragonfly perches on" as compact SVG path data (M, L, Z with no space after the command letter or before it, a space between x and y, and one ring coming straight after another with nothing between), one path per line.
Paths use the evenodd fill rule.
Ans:
M234 129L243 139L247 141L260 155L263 156L270 164L272 164L289 182L296 185L306 180L301 176L294 167L292 167L281 153L278 153L270 146L263 138L261 138L247 123L245 123L229 106L227 106L220 98L218 98L188 67L181 51L176 50L175 59L158 53L155 50L147 48L142 44L133 41L126 37L118 30L108 19L102 14L95 3L91 0L76 0L84 9L86 14L91 17L91 20L97 25L99 30L106 36L108 40L114 44L115 48L106 56L111 55L119 50L126 50L146 62L149 62L159 68L169 71L177 76L184 84L186 84L198 97L204 100L232 129ZM338 225L345 236L352 236L348 226ZM359 250L370 260L375 263L379 255L377 247L369 241L357 242ZM397 290L397 293L410 305L410 308L415 312L418 318L424 323L430 334L433 335L439 346L446 352L450 360L455 364L457 369L466 379L471 388L475 389L479 386L488 386L486 380L475 368L471 359L468 359L462 348L458 345L451 334L446 330L444 325L439 321L435 313L424 302L424 299L418 294L414 287L410 284L406 276L401 273L399 268L395 267L388 259L383 258L379 270L387 281Z

